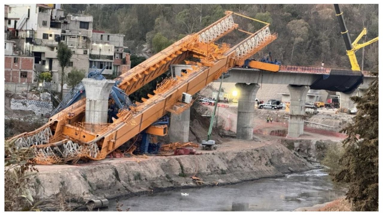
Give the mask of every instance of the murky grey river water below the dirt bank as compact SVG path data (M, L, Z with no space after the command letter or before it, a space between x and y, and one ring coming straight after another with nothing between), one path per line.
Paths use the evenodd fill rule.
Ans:
M181 193L188 193L182 196ZM177 189L128 199L119 199L131 211L291 211L337 199L343 192L333 189L321 170L287 174L220 187ZM116 210L110 201L109 211Z

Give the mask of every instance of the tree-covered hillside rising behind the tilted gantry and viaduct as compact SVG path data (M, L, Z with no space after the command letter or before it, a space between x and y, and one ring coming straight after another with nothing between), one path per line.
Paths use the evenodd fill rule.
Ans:
M366 41L378 36L378 5L340 5L351 40L367 28ZM93 28L126 35L124 45L140 54L148 44L152 53L159 52L186 34L191 34L224 16L231 10L271 23L278 39L256 56L272 52L284 65L349 68L345 44L340 35L333 5L64 5L66 13L93 16ZM113 24L111 24L113 23ZM255 22L244 23L246 31L259 28ZM234 42L235 35L223 42ZM364 38L361 39L361 42ZM357 52L361 64L362 51ZM378 61L378 43L365 49L364 69L372 70Z

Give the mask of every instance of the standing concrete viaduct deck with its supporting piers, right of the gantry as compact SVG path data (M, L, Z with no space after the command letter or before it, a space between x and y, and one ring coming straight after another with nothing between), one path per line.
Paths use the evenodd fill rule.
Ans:
M172 71L177 75L187 67L188 65L172 65ZM224 78L223 82L236 83L236 88L241 92L238 98L237 138L244 140L253 138L254 103L261 83L288 85L290 92L288 136L299 137L303 134L304 103L309 89L338 91L340 107L353 108L354 103L350 97L355 96L357 92L359 95L363 94L376 78L365 71L295 66L281 66L278 72L234 67L229 70L229 74L230 77ZM220 79L216 80L216 82L220 81ZM172 129L171 125L171 136L174 133L180 135L180 132L175 130L177 129Z

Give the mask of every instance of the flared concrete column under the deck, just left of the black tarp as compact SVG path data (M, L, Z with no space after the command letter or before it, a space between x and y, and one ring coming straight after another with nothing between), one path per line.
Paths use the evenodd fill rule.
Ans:
M299 137L303 134L304 103L309 86L287 86L290 91L290 115L288 121L288 136Z

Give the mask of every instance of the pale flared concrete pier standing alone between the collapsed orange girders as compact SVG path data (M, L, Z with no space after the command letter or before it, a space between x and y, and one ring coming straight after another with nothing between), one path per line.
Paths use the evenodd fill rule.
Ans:
M108 121L108 99L115 81L84 78L82 83L87 95L85 122L106 123Z

